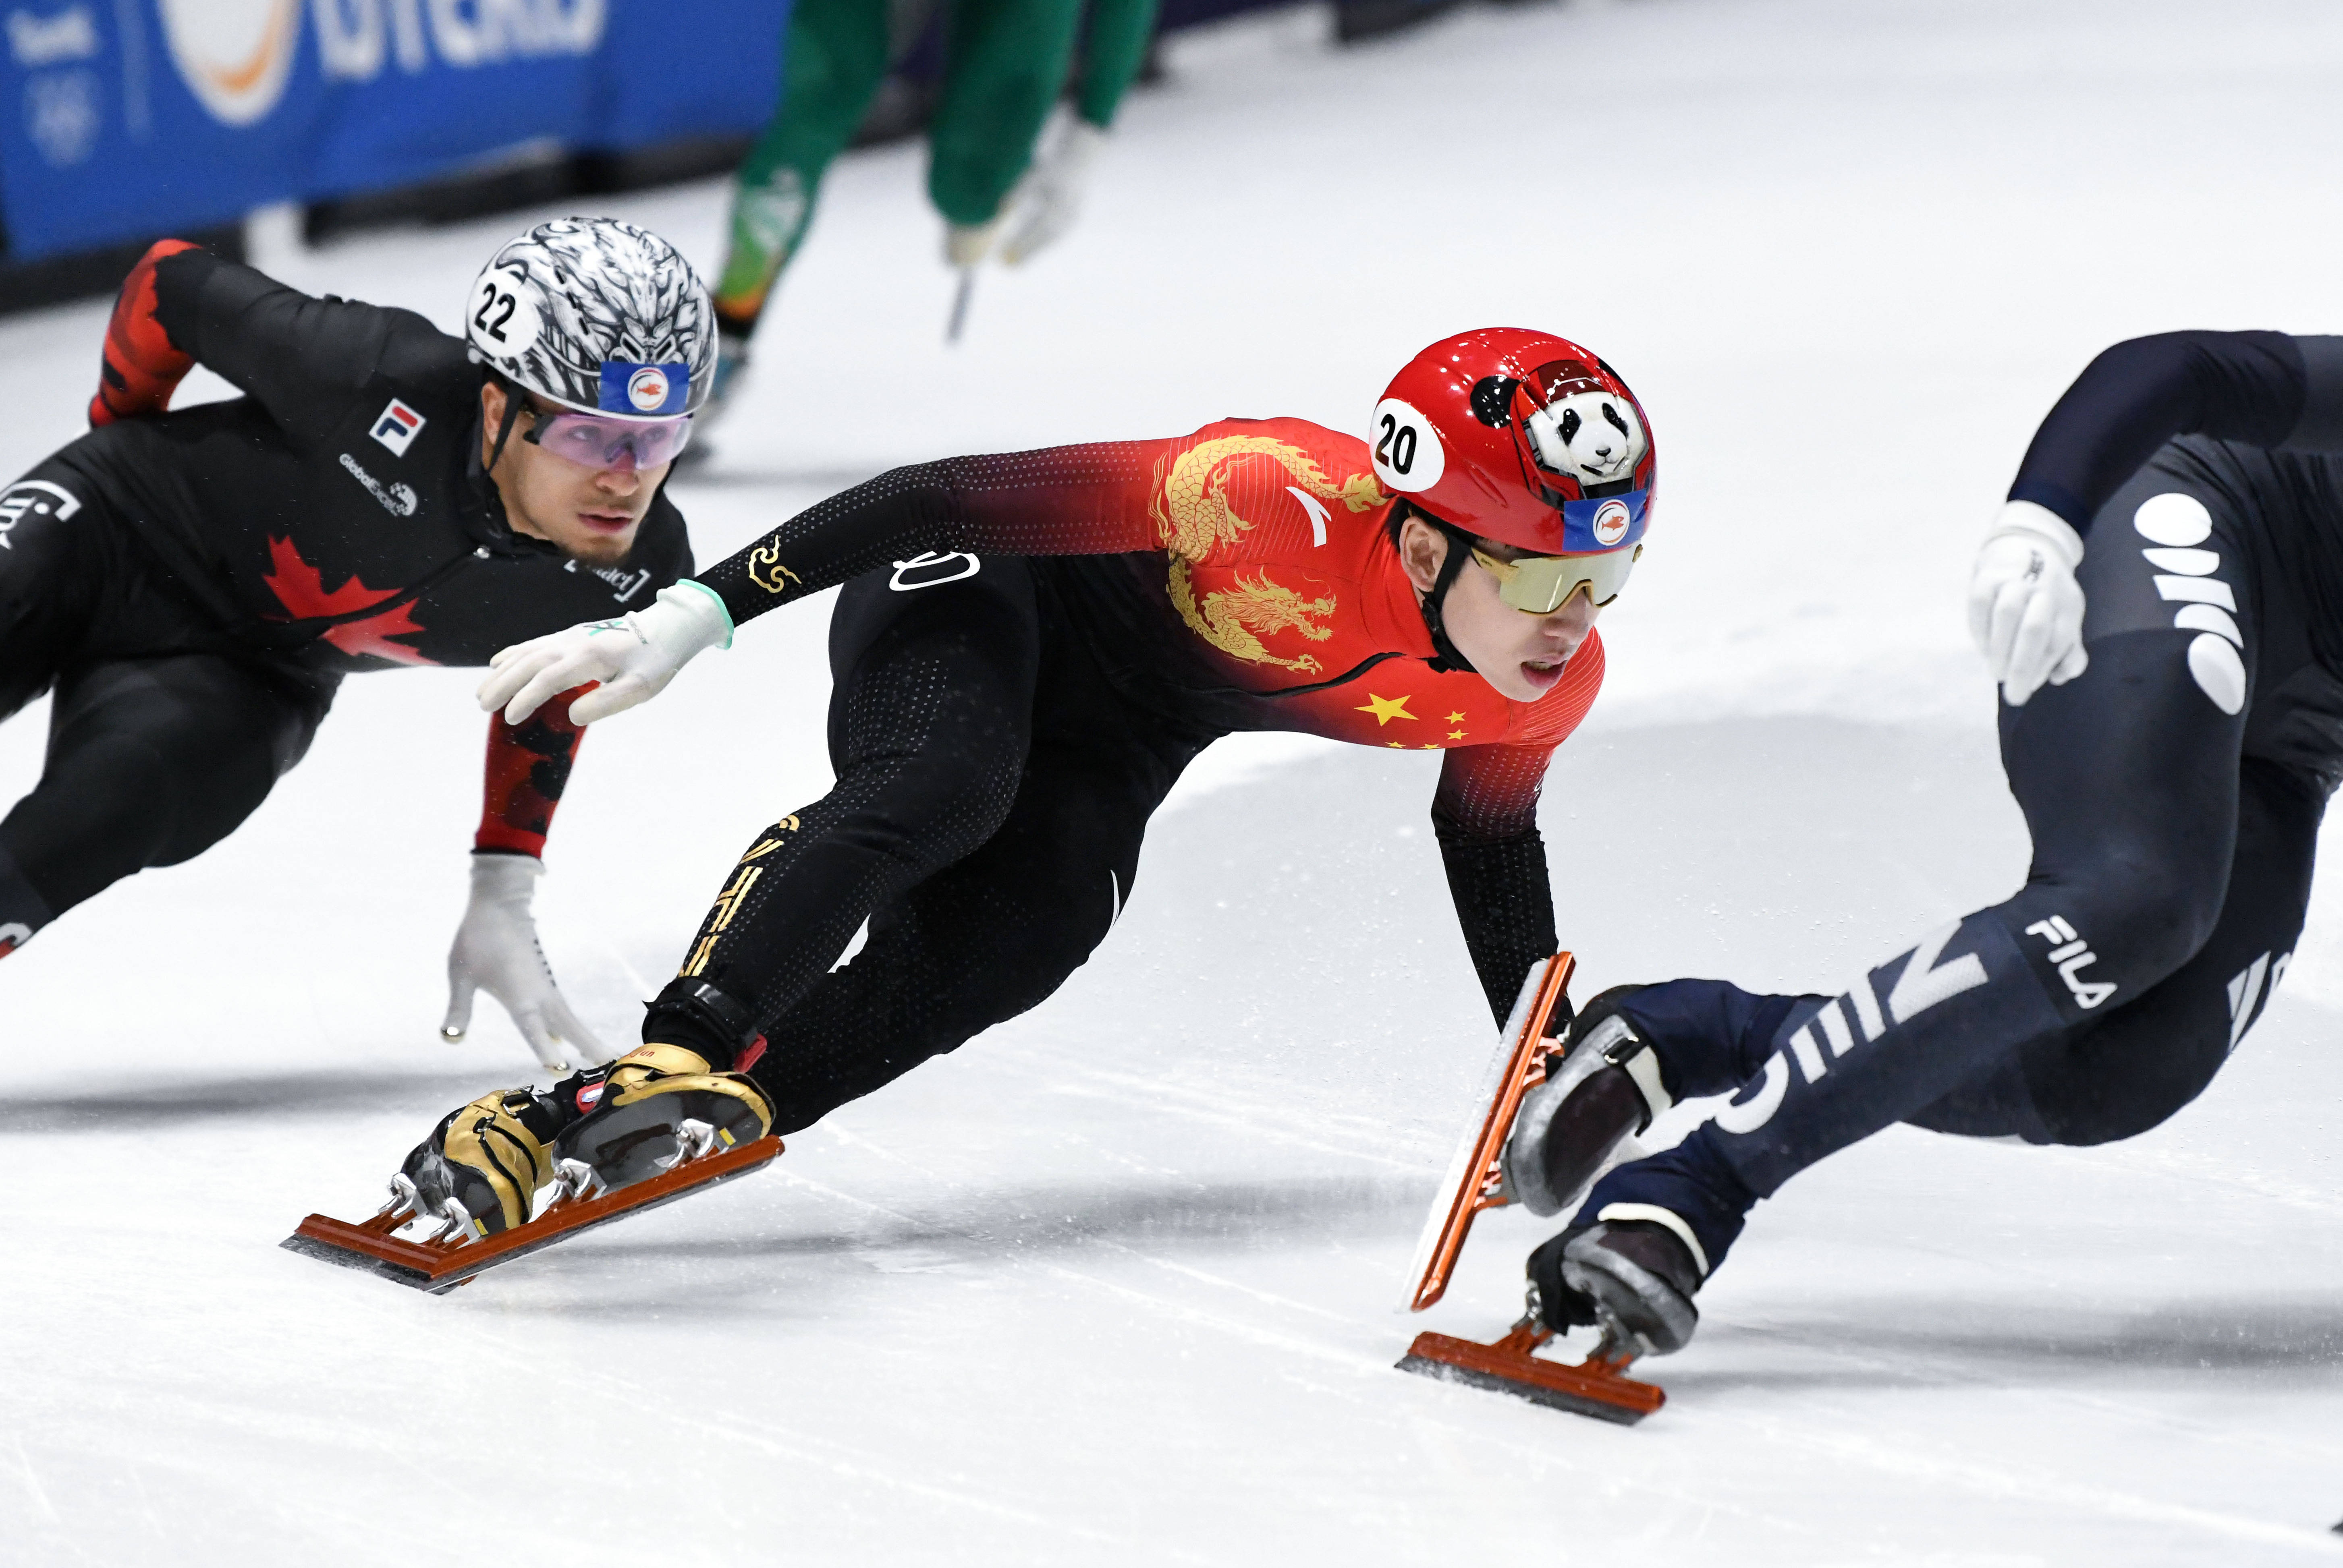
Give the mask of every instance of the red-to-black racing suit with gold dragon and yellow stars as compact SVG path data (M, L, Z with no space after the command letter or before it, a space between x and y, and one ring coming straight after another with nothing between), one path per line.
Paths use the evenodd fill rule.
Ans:
M897 469L717 565L733 621L846 584L839 780L747 846L644 1038L731 1064L764 1034L780 1132L876 1090L1089 956L1148 813L1235 729L1446 752L1432 818L1502 1017L1553 952L1537 795L1603 642L1535 703L1448 668L1389 513L1364 443L1223 420Z

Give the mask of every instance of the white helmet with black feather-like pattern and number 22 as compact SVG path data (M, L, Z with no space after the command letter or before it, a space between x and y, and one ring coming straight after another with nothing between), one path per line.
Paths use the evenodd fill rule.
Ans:
M616 218L555 218L497 251L471 286L464 338L515 387L621 420L694 413L717 368L698 272Z

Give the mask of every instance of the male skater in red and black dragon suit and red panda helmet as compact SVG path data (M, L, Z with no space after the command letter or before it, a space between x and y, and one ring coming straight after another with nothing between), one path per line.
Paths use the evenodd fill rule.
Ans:
M1366 443L1223 420L895 469L640 635L499 654L480 691L506 720L588 680L609 713L736 623L846 584L836 788L747 844L642 1050L452 1113L405 1165L410 1200L504 1230L562 1163L623 1186L684 1123L794 1132L1017 1017L1106 938L1148 813L1235 729L1446 752L1432 818L1502 1017L1553 952L1537 795L1603 682L1593 621L1642 553L1654 469L1642 410L1591 352L1481 330L1408 363Z

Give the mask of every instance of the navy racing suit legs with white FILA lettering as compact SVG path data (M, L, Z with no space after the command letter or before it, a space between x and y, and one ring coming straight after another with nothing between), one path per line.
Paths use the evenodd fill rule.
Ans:
M2001 708L2024 888L1835 998L1783 1008L1706 980L1631 998L1673 1092L1741 1095L1610 1172L1579 1223L1659 1205L1713 1266L1748 1202L1888 1123L2099 1144L2195 1099L2284 973L2343 759L2343 682L2310 652L2289 560L2296 530L2343 518L2338 471L2195 441L2142 469L2081 567L2090 668ZM2174 497L2163 518L2191 497L2209 537L2144 537L2151 497Z

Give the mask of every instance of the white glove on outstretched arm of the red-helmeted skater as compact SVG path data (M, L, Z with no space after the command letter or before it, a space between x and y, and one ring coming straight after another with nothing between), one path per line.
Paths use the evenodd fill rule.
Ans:
M520 724L548 698L600 680L600 691L569 703L572 724L593 724L651 701L710 647L731 647L731 614L715 588L686 577L616 621L588 621L499 649L480 682L480 708L504 708L504 722Z

